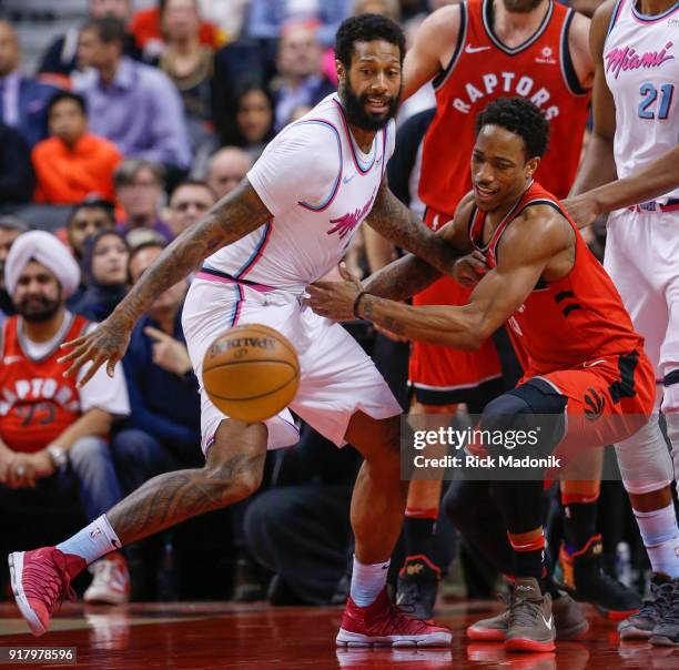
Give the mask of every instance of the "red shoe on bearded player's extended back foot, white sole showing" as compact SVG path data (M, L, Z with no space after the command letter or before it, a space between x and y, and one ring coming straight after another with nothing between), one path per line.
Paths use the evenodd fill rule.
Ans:
M31 632L38 637L50 626L54 606L64 598L75 600L71 579L87 567L73 554L62 554L55 547L33 551L16 551L9 556L12 590L21 615Z

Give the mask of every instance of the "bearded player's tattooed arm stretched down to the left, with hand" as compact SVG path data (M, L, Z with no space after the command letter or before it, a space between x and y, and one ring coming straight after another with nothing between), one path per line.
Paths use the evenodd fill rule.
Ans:
M134 323L159 295L196 270L209 255L255 231L270 217L271 213L255 190L243 180L202 221L186 229L163 250L109 318L89 335L62 345L73 347L60 359L72 361L67 375L74 375L89 361L92 365L79 386L83 386L105 362L111 375L128 348Z

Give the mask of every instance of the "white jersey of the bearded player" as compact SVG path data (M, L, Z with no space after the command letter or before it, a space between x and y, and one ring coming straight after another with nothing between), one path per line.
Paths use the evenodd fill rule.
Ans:
M364 154L337 95L325 98L284 129L247 173L272 219L210 256L203 273L303 293L341 261L371 211L394 138L391 121Z

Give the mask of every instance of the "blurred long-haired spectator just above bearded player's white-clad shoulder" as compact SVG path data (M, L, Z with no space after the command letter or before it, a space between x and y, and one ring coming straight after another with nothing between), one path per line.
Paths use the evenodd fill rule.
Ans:
M242 82L235 98L235 123L230 144L241 146L256 161L274 136L273 101L267 89Z

